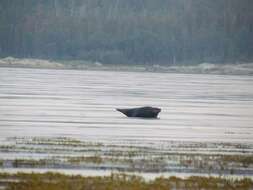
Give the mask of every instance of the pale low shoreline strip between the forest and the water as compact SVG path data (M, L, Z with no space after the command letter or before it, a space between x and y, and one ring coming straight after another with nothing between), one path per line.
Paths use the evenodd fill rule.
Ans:
M183 74L253 75L253 63L201 63L194 65L112 65L85 60L52 61L44 59L6 57L0 59L0 67L97 71L135 71Z

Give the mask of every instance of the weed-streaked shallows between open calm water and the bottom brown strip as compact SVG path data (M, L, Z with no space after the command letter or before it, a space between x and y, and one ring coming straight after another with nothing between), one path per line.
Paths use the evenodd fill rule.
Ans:
M0 146L1 169L107 170L245 176L253 175L253 146L239 143L163 141L157 144L90 142L58 137L12 137Z

